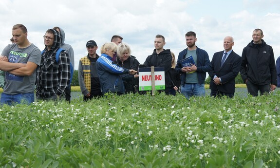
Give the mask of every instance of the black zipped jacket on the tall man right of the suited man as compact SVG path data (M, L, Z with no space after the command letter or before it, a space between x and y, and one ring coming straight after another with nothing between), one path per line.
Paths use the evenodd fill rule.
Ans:
M253 40L243 49L240 75L256 85L277 85L276 65L273 49L263 40L254 44Z

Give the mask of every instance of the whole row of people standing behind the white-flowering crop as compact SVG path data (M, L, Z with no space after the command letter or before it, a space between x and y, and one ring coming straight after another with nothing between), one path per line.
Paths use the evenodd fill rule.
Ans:
M27 39L27 29L16 24L12 30L13 40L0 56L0 70L5 72L5 86L1 104L32 103L34 86L40 100L71 100L70 65L74 66L74 50L65 44L62 28L48 29L43 36L45 49L40 51ZM233 37L224 37L224 50L209 60L207 52L196 46L196 34L185 35L187 48L181 51L177 61L174 53L164 49L165 37L156 35L154 51L143 63L144 67L164 67L165 92L180 93L189 98L205 95L206 73L211 77L211 96L233 97L235 77L240 73L247 85L248 93L257 96L270 93L277 85L277 71L272 47L267 45L261 29L253 31L253 40L243 49L242 56L236 54ZM105 93L139 92L139 61L131 56L131 48L122 42L123 37L113 36L111 42L101 46L101 55L94 40L86 43L87 56L79 60L78 80L84 101ZM60 51L59 49L63 49ZM56 58L58 55L58 58ZM182 60L192 57L193 63L185 66ZM70 63L71 62L71 63ZM1 83L0 83L1 84Z

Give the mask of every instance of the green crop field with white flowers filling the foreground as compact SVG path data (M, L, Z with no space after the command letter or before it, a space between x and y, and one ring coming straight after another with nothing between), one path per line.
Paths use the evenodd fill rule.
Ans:
M107 94L0 108L4 168L276 168L280 93Z

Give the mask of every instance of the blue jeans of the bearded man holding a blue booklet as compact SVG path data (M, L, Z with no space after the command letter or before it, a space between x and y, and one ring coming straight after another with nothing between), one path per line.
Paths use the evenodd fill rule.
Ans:
M204 83L185 83L181 85L181 93L185 95L187 99L191 96L205 96Z

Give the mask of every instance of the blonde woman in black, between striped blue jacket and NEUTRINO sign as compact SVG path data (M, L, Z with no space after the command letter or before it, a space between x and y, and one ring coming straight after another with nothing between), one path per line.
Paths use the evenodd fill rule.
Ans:
M131 56L131 48L126 43L120 43L118 45L115 63L123 68L132 70L138 70L140 64L135 56ZM136 93L135 86L138 84L138 78L132 78L131 80L124 81L125 93Z

